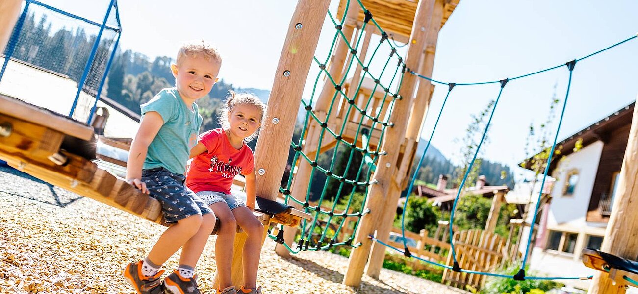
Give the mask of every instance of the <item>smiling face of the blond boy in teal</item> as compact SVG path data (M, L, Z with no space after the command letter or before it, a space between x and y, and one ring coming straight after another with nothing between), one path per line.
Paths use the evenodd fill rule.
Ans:
M198 54L197 57L184 56L179 63L170 68L182 99L195 101L211 92L212 85L218 80L220 62Z

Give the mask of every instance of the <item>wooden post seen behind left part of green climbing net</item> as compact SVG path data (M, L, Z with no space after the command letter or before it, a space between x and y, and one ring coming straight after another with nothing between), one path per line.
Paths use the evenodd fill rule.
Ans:
M356 1L351 1L349 8L350 9L348 9L348 13L346 14L346 19L354 18L357 13L359 13L359 4ZM323 15L325 15L325 13L323 13ZM346 23L348 22L346 21ZM352 38L353 31L353 26L343 27L343 34L348 41L350 41L350 38ZM346 56L349 54L349 51L350 50L348 49L348 45L346 44L346 42L341 37L339 37L337 49L335 50L334 55L332 55L331 57L332 62L330 62L330 66L328 68L330 77L334 78L334 80L337 82L341 80L341 77L343 77L343 64L346 60ZM303 87L303 84L301 86ZM335 91L336 90L334 89L334 85L332 85L330 80L326 79L325 84L323 84L322 92L317 99L317 103L313 107L315 114L319 119L325 119L330 101L332 101L332 96L334 96ZM296 110L290 112L290 114L296 113ZM320 148L319 136L322 133L322 128L320 128L318 122L314 121L314 119L310 119L306 128L308 128L308 133L306 135L306 143L304 144L302 151L308 154L312 151L318 151L318 149ZM334 138L324 138L324 140L334 140ZM297 174L295 175L292 186L290 187L291 196L293 196L295 199L301 201L306 200L306 194L308 193L308 183L310 182L310 175L312 173L312 170L312 166L310 165L310 163L308 163L308 161L306 161L306 159L299 159ZM292 170L290 172L292 172ZM299 205L295 205L295 208L301 209ZM284 230L283 239L286 241L286 244L288 246L292 246L295 235L297 235L296 228L286 228ZM277 244L277 246L275 246L275 251L279 256L290 256L290 252L283 245Z

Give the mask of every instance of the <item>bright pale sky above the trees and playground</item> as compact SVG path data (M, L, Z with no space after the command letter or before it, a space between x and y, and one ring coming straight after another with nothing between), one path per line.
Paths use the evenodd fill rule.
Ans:
M98 21L108 6L105 0L44 2ZM118 1L121 48L153 58L173 56L185 40L208 40L223 55L220 77L225 82L236 87L271 89L297 1L181 3L187 4L169 0ZM337 4L333 1L330 11L334 13ZM634 36L638 31L635 11L638 1L634 0L613 4L593 0L461 0L440 31L433 78L443 82L485 82L564 64ZM316 52L319 59L327 57L333 34L334 26L327 20ZM405 56L406 48L401 48L399 54ZM309 80L314 81L317 72L313 67ZM635 101L636 77L636 39L578 62L558 139ZM482 156L508 165L524 159L528 126L545 120L554 86L556 98L561 99L559 109L562 108L567 78L568 70L563 66L509 82L494 111ZM311 93L309 85L304 91L306 100ZM457 156L458 140L465 134L470 115L495 99L498 91L495 84L456 87L432 144L448 158ZM445 94L447 86L438 85L423 128L425 138L431 134ZM555 129L552 126L552 138Z

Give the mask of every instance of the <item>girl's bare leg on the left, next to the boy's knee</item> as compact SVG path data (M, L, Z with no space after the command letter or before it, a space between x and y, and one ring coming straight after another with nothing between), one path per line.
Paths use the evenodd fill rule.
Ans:
M219 231L215 241L215 261L217 263L217 277L219 279L219 289L233 285L232 261L233 244L235 243L235 233L237 233L237 221L228 208L226 202L211 204L212 212L219 217Z

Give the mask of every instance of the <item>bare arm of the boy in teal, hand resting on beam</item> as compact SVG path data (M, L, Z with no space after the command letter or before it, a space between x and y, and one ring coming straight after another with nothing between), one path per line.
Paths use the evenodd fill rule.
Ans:
M131 149L128 152L126 161L126 181L135 185L143 193L149 193L146 184L142 182L142 165L146 159L149 145L158 134L159 128L164 124L164 120L158 112L147 112L140 122L140 128L131 142Z

